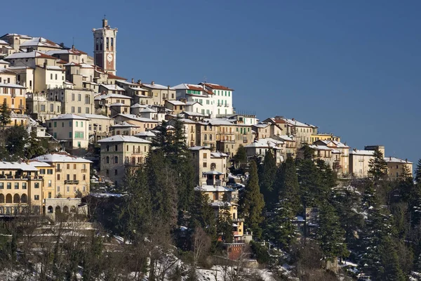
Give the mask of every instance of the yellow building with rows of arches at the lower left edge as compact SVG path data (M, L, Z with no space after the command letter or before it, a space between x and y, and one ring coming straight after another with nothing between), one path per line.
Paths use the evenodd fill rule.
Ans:
M0 162L0 216L41 214L43 183L31 164Z

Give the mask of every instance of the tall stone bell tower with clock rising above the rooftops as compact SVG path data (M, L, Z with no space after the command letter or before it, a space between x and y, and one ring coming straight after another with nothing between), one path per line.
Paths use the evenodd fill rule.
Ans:
M93 28L93 61L105 72L116 74L116 35L117 29L102 20L101 28Z

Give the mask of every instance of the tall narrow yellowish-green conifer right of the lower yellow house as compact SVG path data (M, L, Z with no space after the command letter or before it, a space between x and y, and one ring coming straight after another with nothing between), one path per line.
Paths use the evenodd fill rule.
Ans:
M258 166L253 161L250 164L248 183L240 198L240 210L246 227L250 228L253 235L258 238L262 235L260 223L263 221L262 211L264 207L265 200L259 187Z

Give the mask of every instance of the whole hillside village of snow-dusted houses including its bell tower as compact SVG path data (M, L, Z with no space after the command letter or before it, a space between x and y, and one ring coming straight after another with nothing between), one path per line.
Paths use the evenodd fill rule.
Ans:
M254 238L239 208L240 194L252 174L250 162L262 166L268 153L276 166L287 159L323 160L340 181L373 176L370 163L378 152L390 181L413 173L413 163L405 156L389 155L387 148L376 144L352 148L335 133L319 131L322 124L311 120L237 113L233 85L185 81L171 86L159 77L119 77L116 60L123 54L117 52L117 28L104 19L92 32L89 53L44 37L0 37L1 130L26 133L24 154L13 153L11 144L3 143L4 218L27 211L52 222L61 214L89 216L86 198L97 202L120 196L119 190L128 185L128 171L145 164L163 132L182 132L178 137L189 152L194 190L207 196L215 218L228 210L232 233L218 239L227 242L225 237L232 236L225 243L232 260L239 259L238 249ZM42 148L27 153L32 146ZM304 210L293 222L298 232L311 233L302 223L312 219L314 210Z

